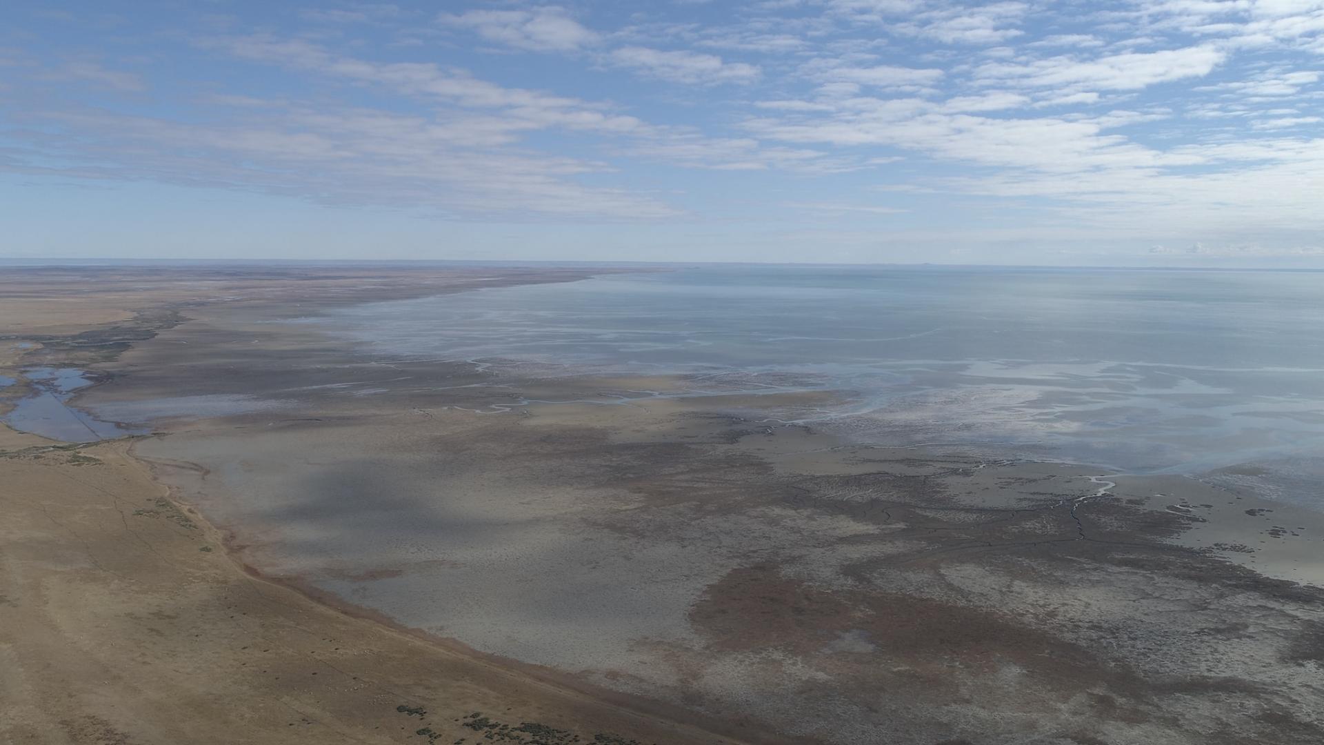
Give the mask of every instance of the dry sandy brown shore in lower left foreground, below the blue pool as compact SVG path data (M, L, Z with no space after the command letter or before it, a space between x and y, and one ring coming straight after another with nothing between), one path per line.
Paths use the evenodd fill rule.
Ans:
M12 447L11 439L0 441ZM461 654L263 577L229 555L224 532L176 502L131 445L128 437L29 443L29 453L0 457L19 489L0 496L8 518L0 740L385 745L413 740L405 734L417 725L395 726L413 718L396 712L409 705L441 709L428 724L457 734L470 730L446 712L458 722L478 708L512 726L618 732L608 737L620 742L741 742ZM331 688L310 677L319 672Z

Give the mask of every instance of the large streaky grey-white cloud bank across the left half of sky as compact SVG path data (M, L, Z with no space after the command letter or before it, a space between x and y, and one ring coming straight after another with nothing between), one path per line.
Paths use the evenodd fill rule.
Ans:
M426 114L312 105L285 98L208 93L207 109L180 115L131 115L83 105L15 110L21 123L0 159L9 172L94 180L151 179L179 186L234 188L322 204L387 207L448 216L506 219L655 219L666 203L577 179L614 167L589 158L522 147L544 129L606 137L657 138L665 127L610 106L528 89L503 87L430 62L373 62L302 40L249 36L205 48L250 62L376 86L426 106ZM140 81L95 65L44 69L19 58L33 86L58 77L136 90ZM187 106L189 99L180 99ZM61 166L52 166L58 162Z

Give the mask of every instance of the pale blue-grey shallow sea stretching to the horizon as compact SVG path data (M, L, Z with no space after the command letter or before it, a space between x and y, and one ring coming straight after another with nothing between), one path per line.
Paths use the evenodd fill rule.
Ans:
M1324 445L1324 273L699 266L331 321L385 355L679 374L694 395L839 391L797 420L879 444L1133 473L1304 463Z

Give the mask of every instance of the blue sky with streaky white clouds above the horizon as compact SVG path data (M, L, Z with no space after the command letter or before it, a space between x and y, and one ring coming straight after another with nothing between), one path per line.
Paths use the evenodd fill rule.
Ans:
M4 16L0 257L1324 266L1324 0Z

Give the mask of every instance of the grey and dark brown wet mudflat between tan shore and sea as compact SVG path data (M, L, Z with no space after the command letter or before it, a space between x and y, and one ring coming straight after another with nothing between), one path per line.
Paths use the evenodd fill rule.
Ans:
M1324 738L1317 513L273 322L308 312L180 310L75 403L154 412L134 455L242 565L428 648L748 741Z

